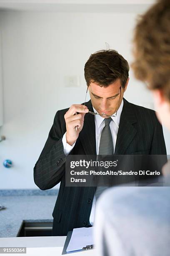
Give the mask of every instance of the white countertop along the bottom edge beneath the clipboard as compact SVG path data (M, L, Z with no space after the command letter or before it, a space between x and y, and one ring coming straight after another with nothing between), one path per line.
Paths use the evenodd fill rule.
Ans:
M35 237L9 237L0 238L0 247L27 247L26 254L7 253L7 255L40 255L60 256L65 243L66 236L35 236ZM94 256L95 249L69 253L70 256Z

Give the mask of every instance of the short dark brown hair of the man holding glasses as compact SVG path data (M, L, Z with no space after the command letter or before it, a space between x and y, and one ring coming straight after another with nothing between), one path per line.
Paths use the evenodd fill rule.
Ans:
M85 64L85 80L107 87L120 79L121 86L125 87L129 77L129 65L122 55L115 50L100 50L90 55Z

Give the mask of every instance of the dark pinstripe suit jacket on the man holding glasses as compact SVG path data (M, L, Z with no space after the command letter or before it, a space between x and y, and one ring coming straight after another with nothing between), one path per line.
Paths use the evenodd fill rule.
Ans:
M115 154L166 154L162 126L153 110L124 100L117 133ZM93 111L91 101L87 107ZM69 230L88 226L95 187L65 187L65 154L62 136L66 132L64 114L57 111L45 146L34 167L34 181L42 189L61 182L55 203L53 235L65 236ZM70 154L95 155L95 118L85 115L84 126Z

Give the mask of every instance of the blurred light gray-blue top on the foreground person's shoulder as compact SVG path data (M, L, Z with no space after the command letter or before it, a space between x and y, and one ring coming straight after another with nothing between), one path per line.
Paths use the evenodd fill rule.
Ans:
M168 184L170 176L166 187L115 187L103 193L94 225L98 256L170 255Z

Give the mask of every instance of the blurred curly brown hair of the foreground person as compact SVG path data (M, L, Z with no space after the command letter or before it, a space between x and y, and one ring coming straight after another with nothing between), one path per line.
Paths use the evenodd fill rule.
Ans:
M170 101L170 0L159 0L139 17L133 42L135 77Z

